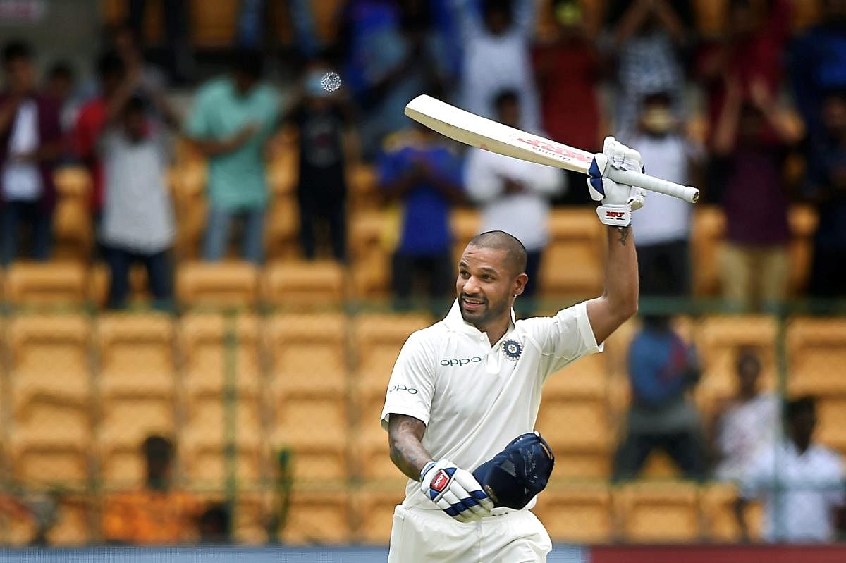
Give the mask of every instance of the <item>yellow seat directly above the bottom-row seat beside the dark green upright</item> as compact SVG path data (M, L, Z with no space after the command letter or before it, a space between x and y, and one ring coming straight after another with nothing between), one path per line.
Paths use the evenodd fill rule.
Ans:
M350 439L345 397L277 395L272 411L276 416L271 444L277 451L293 452L297 482L347 477Z

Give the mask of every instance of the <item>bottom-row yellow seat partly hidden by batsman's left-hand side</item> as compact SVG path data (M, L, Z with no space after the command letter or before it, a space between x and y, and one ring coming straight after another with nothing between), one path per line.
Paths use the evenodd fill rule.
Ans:
M354 495L355 539L365 544L387 545L391 539L393 509L405 498L404 483L386 486L371 482Z

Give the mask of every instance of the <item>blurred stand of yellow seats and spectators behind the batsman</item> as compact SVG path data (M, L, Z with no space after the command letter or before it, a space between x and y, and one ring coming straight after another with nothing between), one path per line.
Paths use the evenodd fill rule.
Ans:
M702 191L545 387L551 560L846 560L846 1L0 0L0 44L0 545L384 560L378 415L464 244L523 241L520 316L602 293L584 177L428 93Z

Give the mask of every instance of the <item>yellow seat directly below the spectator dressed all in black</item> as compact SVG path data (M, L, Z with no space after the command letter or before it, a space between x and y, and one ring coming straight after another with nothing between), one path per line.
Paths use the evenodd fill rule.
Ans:
M339 307L344 277L343 265L334 260L273 262L262 276L263 298L288 309Z

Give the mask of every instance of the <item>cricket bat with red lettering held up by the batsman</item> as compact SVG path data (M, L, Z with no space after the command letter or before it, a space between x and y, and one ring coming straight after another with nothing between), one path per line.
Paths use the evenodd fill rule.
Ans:
M593 161L593 153L562 145L551 139L526 133L503 123L465 112L459 107L422 94L409 101L405 115L450 139L465 145L477 146L504 156L545 164L586 174ZM607 178L614 182L648 189L659 194L695 203L699 190L679 183L667 182L648 174L612 168Z

